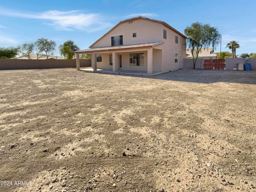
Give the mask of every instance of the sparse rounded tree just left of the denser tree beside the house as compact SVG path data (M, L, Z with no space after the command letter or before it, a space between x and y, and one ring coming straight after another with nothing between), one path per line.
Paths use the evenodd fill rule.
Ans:
M55 51L56 43L52 40L46 39L46 38L39 38L35 42L36 46L38 47L38 50L40 52L44 52L46 55L46 59L49 58L49 55L53 54Z

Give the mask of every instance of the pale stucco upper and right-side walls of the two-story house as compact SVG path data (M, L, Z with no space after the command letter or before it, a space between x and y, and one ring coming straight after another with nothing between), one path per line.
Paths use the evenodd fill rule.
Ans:
M167 32L166 39L163 38L163 29ZM137 37L132 37L133 33L137 33ZM130 24L129 22L121 23L115 29L110 31L109 34L100 39L99 42L91 46L91 48L111 46L111 37L118 35L123 35L124 45L163 41L164 44L154 47L155 49L162 50L162 69L160 71L179 69L182 65L181 60L186 58L186 38L164 26L162 23L145 19L134 20ZM178 44L175 43L175 36L178 36ZM174 62L175 54L178 54L177 63ZM158 71L160 65L158 62L159 60L156 63L154 56L153 60L153 66L156 65L154 69L155 71Z

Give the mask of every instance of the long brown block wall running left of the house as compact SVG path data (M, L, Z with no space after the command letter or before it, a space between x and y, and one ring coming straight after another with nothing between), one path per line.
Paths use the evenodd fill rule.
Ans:
M81 59L81 67L90 67L91 60ZM9 69L50 69L50 68L67 68L76 67L76 60L63 60L63 59L0 59L0 70Z

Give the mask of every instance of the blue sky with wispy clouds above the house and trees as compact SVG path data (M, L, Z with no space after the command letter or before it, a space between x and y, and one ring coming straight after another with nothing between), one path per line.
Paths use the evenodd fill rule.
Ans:
M222 35L222 51L235 40L241 46L237 54L255 53L255 7L254 0L0 0L0 47L44 37L58 46L71 39L85 49L117 22L143 15L165 21L181 33L193 22L209 23ZM58 49L55 53L59 55Z

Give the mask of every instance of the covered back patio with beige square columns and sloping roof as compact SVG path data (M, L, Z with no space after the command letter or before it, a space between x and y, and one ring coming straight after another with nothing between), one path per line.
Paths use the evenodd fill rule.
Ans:
M76 68L87 72L156 75L162 72L163 42L99 47L76 51ZM80 54L90 54L92 68L80 68Z

